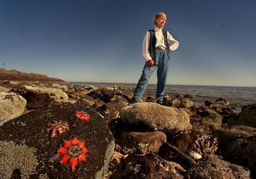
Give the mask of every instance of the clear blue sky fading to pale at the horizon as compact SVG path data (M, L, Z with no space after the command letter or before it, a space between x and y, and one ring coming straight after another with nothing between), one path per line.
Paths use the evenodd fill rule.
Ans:
M168 84L256 87L255 0L0 0L0 67L136 83L142 40L160 11L180 42Z

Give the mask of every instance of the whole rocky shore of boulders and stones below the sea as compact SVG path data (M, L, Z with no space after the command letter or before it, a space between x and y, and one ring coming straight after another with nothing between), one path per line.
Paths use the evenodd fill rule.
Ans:
M256 178L256 104L0 81L2 178Z

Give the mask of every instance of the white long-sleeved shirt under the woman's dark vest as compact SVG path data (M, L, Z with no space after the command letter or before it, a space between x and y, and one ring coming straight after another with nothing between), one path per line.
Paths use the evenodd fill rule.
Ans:
M164 35L162 32L162 28L158 28L155 26L155 35L156 35L156 47L162 48L165 50L165 44L164 44ZM142 45L142 56L144 57L145 61L148 61L149 59L152 59L149 53L149 41L150 41L150 32L147 31ZM174 51L178 48L178 41L176 41L173 36L169 32L167 32L167 41L169 44L169 51Z

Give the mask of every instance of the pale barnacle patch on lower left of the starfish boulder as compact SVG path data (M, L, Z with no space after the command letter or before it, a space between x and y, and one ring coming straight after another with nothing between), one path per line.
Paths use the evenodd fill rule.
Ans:
M21 178L29 178L36 173L39 164L34 155L36 149L27 145L16 145L10 141L0 141L0 176L11 178L12 174L20 173Z

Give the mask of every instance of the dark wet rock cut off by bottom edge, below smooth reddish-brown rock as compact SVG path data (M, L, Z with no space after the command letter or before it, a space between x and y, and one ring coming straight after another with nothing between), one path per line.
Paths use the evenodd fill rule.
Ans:
M111 175L112 179L137 179L137 178L183 178L172 165L162 160L156 154L145 156L130 154L125 158L118 169Z

